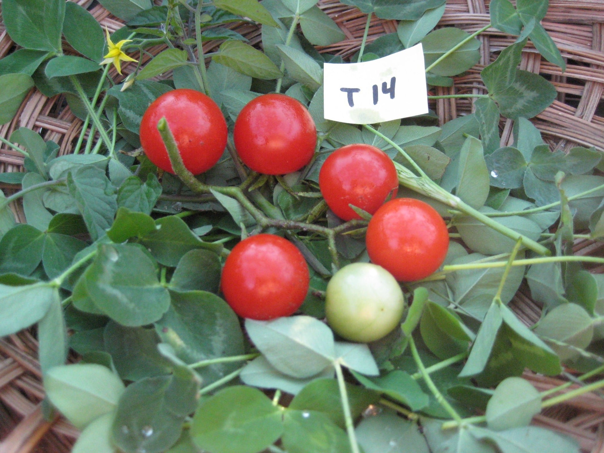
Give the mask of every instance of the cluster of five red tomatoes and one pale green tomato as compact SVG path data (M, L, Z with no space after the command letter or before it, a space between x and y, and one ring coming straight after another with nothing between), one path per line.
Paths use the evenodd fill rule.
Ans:
M176 89L157 98L141 121L141 144L160 169L173 172L157 130L161 118L194 175L209 170L222 156L228 130L220 108L201 92ZM317 135L303 104L286 95L265 94L242 109L233 138L239 157L251 170L281 175L312 160ZM373 214L366 236L373 264L344 266L326 291L327 322L352 341L374 341L393 330L405 307L398 281L432 274L448 250L442 217L422 201L394 198L398 185L393 161L368 144L341 147L321 167L319 187L333 213L343 220L360 219L352 205ZM220 288L238 315L270 320L295 313L306 298L309 281L306 260L291 242L258 234L234 246L225 260Z

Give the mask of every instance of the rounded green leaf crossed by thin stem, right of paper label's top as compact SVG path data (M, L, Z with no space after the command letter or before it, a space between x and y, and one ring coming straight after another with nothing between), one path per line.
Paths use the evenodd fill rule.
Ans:
M440 28L429 33L422 39L426 67L432 65L455 45L467 39L468 36L470 36L469 33L455 27ZM478 60L480 60L480 50L478 49L480 49L480 41L473 38L430 71L438 76L457 76L478 63Z

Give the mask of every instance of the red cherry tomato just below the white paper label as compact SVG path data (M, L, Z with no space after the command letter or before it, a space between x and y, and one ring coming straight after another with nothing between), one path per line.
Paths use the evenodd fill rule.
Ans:
M360 219L349 204L375 213L388 195L396 196L399 179L394 164L379 148L353 144L336 149L319 173L327 206L344 220Z

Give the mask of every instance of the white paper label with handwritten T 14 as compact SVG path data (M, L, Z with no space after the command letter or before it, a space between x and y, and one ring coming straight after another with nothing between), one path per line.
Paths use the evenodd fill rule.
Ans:
M326 120L373 124L428 113L422 44L364 63L323 66Z

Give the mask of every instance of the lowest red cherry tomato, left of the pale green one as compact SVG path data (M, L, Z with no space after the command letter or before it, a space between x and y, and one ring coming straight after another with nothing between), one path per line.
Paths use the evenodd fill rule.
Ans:
M272 320L301 306L309 281L306 261L291 242L258 234L234 246L222 269L220 288L237 315Z

